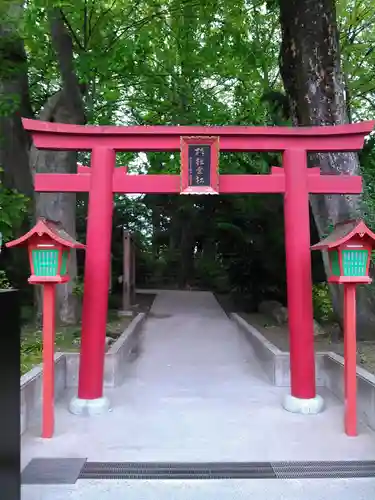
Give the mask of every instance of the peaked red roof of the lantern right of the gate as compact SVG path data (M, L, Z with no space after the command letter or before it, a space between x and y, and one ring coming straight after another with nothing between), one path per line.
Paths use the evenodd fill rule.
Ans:
M352 219L336 224L334 230L326 238L311 247L312 250L329 250L343 245L354 236L367 236L375 246L375 234L361 219Z

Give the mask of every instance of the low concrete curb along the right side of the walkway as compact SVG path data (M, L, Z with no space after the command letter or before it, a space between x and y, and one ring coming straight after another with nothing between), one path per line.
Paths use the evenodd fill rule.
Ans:
M232 313L230 317L244 332L271 383L290 387L289 353L269 342L238 314ZM317 387L327 387L344 401L344 358L334 352L317 352L315 366ZM359 417L375 430L375 376L360 366L357 366L357 399Z

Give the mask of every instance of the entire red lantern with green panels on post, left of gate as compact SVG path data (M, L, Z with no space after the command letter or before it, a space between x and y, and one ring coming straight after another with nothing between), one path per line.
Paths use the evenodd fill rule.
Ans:
M43 285L43 388L42 437L54 432L55 387L55 287L69 281L68 265L72 248L85 248L61 226L44 218L24 236L7 247L27 246L31 276L29 283Z

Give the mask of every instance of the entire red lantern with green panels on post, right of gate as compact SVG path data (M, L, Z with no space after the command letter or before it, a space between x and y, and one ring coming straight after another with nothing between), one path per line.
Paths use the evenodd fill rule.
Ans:
M375 234L361 220L337 224L332 233L312 247L328 252L330 283L344 285L345 432L357 435L356 286L371 283L369 268Z

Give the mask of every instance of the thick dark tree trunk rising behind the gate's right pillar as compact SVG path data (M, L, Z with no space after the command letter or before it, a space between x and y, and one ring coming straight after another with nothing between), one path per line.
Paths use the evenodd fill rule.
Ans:
M280 0L282 45L280 70L295 125L348 122L345 84L340 65L334 0ZM354 153L310 155L323 173L359 175ZM310 203L319 235L332 224L361 214L360 196L313 195ZM324 259L326 274L328 263ZM342 322L342 290L332 286L333 305ZM358 337L374 337L375 297L371 287L358 289Z

